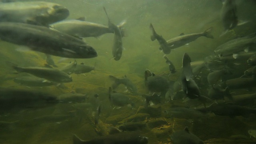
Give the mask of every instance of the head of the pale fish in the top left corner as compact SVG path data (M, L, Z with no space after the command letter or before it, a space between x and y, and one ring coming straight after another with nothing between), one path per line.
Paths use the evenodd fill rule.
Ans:
M46 24L52 24L54 22L64 20L69 16L69 10L66 7L50 2L48 2L47 5L47 10L44 14L38 16L37 21L41 21L42 23Z

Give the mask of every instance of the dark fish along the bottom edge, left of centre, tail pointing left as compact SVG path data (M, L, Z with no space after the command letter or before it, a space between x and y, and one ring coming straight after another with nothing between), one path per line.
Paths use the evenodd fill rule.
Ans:
M118 132L86 141L74 134L73 144L148 144L148 138L138 132Z

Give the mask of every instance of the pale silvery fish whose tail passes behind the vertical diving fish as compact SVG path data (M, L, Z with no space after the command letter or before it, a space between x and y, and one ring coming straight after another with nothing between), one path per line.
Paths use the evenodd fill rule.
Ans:
M121 23L117 27L120 29L122 36L124 36L124 29L122 28L125 23ZM76 20L62 20L50 24L50 28L64 32L76 38L99 37L102 34L114 33L112 28L103 24L94 22L87 22L78 18Z

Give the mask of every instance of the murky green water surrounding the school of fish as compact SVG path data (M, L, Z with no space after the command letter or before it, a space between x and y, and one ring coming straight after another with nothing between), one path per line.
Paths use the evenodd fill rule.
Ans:
M178 70L176 74L167 76L170 81L176 81L180 75L184 52L190 55L192 61L203 60L206 56L213 54L214 49L220 44L239 36L246 36L256 30L256 9L254 8L256 2L254 0L236 1L238 4L238 18L249 20L250 22L242 26L237 26L234 30L222 37L220 37L224 30L220 20L222 3L219 0L41 1L54 2L66 6L70 11L70 16L67 18L69 20L85 16L86 21L107 25L108 19L104 13L103 6L107 9L108 16L114 24L119 24L123 20L126 20L127 24L125 24L124 28L127 36L122 38L123 54L119 61L112 59L113 34L104 34L99 38L84 38L84 41L98 52L98 57L77 59L77 62L78 64L84 62L88 66L94 66L96 63L95 71L86 73L85 75L72 74L73 82L65 84L68 89L60 89L55 86L28 88L13 82L15 77L25 74L13 73L14 71L6 65L6 61L13 62L19 66L43 66L46 63L45 55L31 51L18 52L16 48L19 46L7 42L0 42L1 88L43 91L56 96L79 89L82 93L88 94L89 97L99 94L99 100L102 104L100 123L97 126L93 122L92 110L77 109L72 106L72 103L59 103L39 108L17 108L4 112L0 115L0 122L3 122L0 124L1 144L71 144L72 134L77 134L84 140L90 140L98 136L95 130L99 130L102 135L106 135L107 129L111 126L116 126L116 122L120 122L124 118L137 114L138 112L140 113L140 109L143 109L145 99L140 95L132 96L131 94L129 94L131 100L136 103L134 109L123 107L112 110L108 100L108 87L111 86L112 81L110 81L108 76L122 77L126 75L137 86L139 94L146 94L144 86L144 70L146 68L155 74L168 73L168 65L163 58L164 53L158 49L159 44L157 41L152 42L150 40L150 23L154 25L156 32L166 40L174 38L181 33L200 33L211 26L213 27L212 35L214 39L202 36L189 45L172 50L167 55ZM62 63L57 63L61 58L57 56L52 57L59 67L73 60L67 59ZM255 92L255 87L252 89ZM124 92L124 86L119 86L116 91L126 93ZM207 90L201 91L204 92ZM246 90L236 91L236 94L245 93L253 92ZM162 106L163 111L164 108L174 105L173 103L175 102L159 104L158 106ZM178 101L177 105L181 106L182 102ZM34 119L40 116L56 114L66 114L70 115L70 117L60 120L54 120L54 118L49 118L50 120L43 118L39 120ZM151 116L144 119L144 122L150 122L156 119L161 119L165 122L160 125L156 124L157 127L141 130L149 138L149 144L169 143L169 135L172 134L172 129L183 129L185 126L188 126L194 134L209 144L213 144L215 138L216 144L221 144L219 141L222 138L231 140L230 144L235 143L237 139L230 138L232 135L245 135L248 137L245 141L248 140L251 142L247 130L256 128L255 116L250 119L243 117L229 118L212 116L209 119L191 123L184 119L173 120L171 118L164 118L164 115L161 113L156 117ZM161 125L166 127L160 129ZM211 142L210 139L213 139L213 141ZM243 144L243 142L239 142Z

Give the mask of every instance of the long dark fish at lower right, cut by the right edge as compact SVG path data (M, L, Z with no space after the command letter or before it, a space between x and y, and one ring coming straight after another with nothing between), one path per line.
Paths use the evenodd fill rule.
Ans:
M243 116L245 118L248 118L250 114L256 114L256 108L249 108L247 106L238 106L231 103L226 104L218 104L213 103L210 106L198 109L201 112L213 112L216 115L219 116Z

